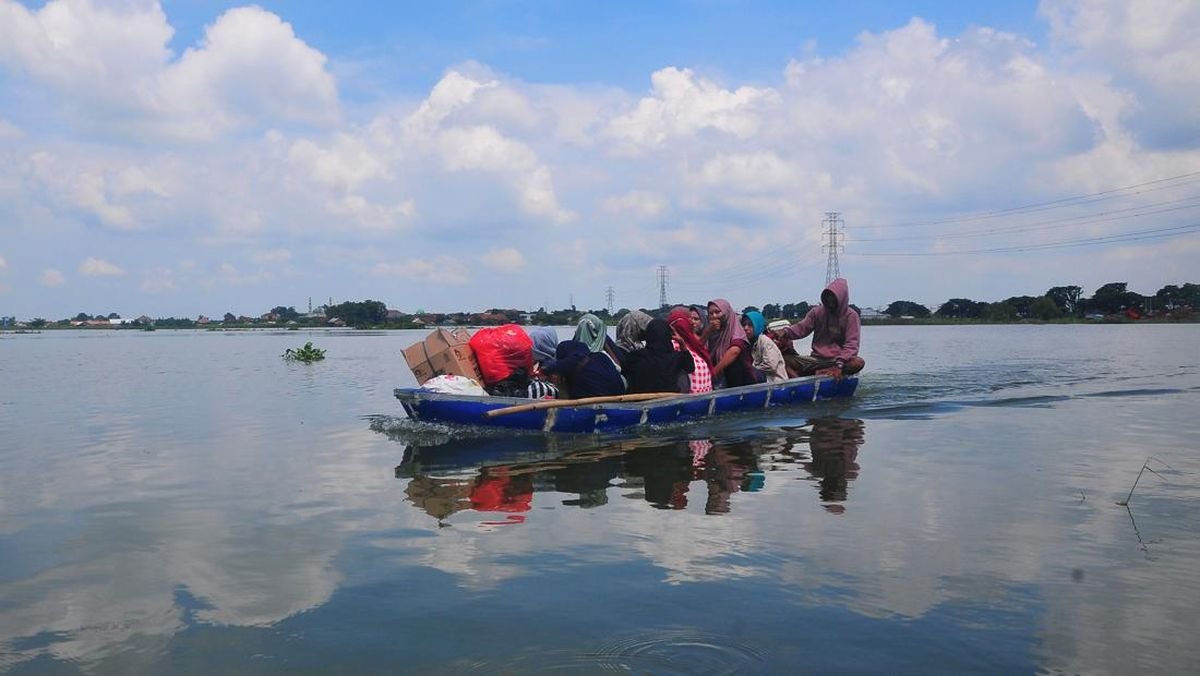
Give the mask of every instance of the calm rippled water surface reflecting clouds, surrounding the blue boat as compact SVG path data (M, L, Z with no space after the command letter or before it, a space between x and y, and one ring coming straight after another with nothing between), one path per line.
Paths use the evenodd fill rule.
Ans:
M0 671L1200 671L1200 325L626 438L414 426L419 335L0 335Z

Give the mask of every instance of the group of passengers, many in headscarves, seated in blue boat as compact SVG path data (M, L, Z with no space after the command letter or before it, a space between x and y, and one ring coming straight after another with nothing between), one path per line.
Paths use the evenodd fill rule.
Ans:
M570 340L559 341L550 327L528 334L534 367L524 391L530 399L701 394L799 376L840 378L865 365L858 355L858 312L850 306L844 279L832 281L821 292L821 304L794 324L767 323L757 310L738 313L728 300L716 298L707 305L677 306L666 317L629 312L617 323L616 340L592 313L580 318ZM809 335L810 353L798 353L793 342Z

